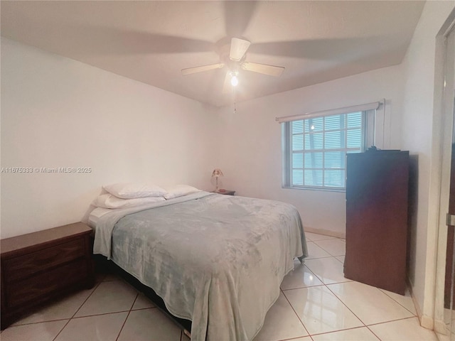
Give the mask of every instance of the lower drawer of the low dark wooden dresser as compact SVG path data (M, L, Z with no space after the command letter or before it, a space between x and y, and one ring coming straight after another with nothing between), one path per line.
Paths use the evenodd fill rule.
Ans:
M23 303L46 297L50 293L58 293L69 286L80 286L80 283L89 279L89 271L87 261L80 259L51 271L25 278L8 288L6 305L9 308L15 308Z

